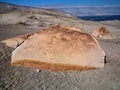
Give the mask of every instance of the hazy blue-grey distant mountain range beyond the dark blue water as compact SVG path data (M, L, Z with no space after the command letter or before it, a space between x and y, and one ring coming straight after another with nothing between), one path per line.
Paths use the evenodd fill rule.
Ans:
M75 16L99 16L99 15L120 15L120 6L68 6L68 5L50 5L43 8L64 11Z

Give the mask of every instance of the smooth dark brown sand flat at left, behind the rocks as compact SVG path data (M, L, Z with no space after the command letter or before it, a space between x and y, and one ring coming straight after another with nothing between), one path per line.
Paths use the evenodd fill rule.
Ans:
M41 29L40 27L30 28L22 25L0 25L0 41L23 35L27 33L35 33Z

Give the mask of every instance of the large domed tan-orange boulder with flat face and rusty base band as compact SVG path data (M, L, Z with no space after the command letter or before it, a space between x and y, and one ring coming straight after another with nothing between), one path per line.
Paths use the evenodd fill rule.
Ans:
M12 53L13 66L83 70L104 67L105 53L89 34L51 27L32 35Z

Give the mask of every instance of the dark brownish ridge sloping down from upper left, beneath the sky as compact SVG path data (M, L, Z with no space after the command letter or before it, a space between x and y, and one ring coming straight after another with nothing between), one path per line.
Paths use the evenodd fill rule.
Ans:
M0 12L4 13L7 11L32 11L32 12L39 12L44 14L50 14L50 15L58 15L58 16L64 16L64 17L73 17L71 15L67 15L67 13L59 12L52 9L43 9L43 8L36 8L36 7L28 7L28 6L19 6L9 3L3 3L0 2Z

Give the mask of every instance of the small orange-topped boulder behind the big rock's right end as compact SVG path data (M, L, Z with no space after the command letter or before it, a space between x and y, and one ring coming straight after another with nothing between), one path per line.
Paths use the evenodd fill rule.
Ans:
M94 30L92 36L100 39L113 39L113 35L106 27L101 27L97 30Z

